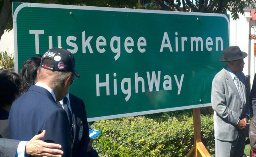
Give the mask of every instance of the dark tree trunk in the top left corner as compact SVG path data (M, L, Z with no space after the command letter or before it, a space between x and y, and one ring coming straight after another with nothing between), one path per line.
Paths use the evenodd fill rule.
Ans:
M0 40L4 33L5 26L12 14L12 4L10 0L3 0L3 6L0 12Z

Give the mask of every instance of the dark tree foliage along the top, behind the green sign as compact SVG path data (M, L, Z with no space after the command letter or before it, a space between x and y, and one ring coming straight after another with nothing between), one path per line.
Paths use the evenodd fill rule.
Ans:
M17 2L52 3L67 5L99 6L114 8L146 8L171 11L191 11L224 13L231 12L233 19L239 18L239 13L244 14L244 8L249 5L255 7L256 0L13 0ZM12 1L0 0L0 40L4 30L13 27ZM144 7L146 6L146 7ZM185 6L185 7L182 7ZM183 9L184 8L184 9Z

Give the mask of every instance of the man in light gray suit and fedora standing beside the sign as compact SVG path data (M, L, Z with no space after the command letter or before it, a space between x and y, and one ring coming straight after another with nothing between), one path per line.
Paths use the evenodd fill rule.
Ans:
M242 72L246 56L238 46L226 48L220 58L226 66L212 81L215 157L243 157L249 118L249 91Z

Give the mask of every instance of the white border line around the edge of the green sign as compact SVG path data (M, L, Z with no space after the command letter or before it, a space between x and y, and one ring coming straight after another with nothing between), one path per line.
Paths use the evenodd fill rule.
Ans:
M128 9L128 8L107 8L107 7L91 7L91 6L70 6L70 5L59 5L59 4L41 4L41 3L22 3L19 5L15 12L13 13L13 30L14 30L14 56L15 56L15 72L18 73L18 47L17 47L17 15L22 8L25 7L37 7L37 8L58 8L58 9L79 9L79 10L100 10L100 11L114 11L114 12L139 12L139 13L154 13L154 14L177 14L177 15L191 15L191 16L215 16L215 17L224 17L228 23L228 38L229 38L229 46L230 46L230 22L225 14L214 14L214 13L200 13L200 12L179 12L179 11L163 11L163 10L143 10L143 9ZM211 103L207 104L198 104L198 105L189 105L183 107L173 107L167 109L157 109L143 112L133 112L127 114L116 114L111 116L101 116L88 118L88 122L90 121L99 121L105 119L113 119L113 118L121 118L127 116L138 116L144 114L153 114L160 112L169 112L176 111L180 109L191 109L198 107L207 107L211 106Z

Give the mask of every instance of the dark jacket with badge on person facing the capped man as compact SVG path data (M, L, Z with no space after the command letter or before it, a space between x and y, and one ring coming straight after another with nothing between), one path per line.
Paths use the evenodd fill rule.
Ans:
M69 93L69 99L75 124L72 155L73 157L87 156L90 138L85 106L83 100L73 94Z

